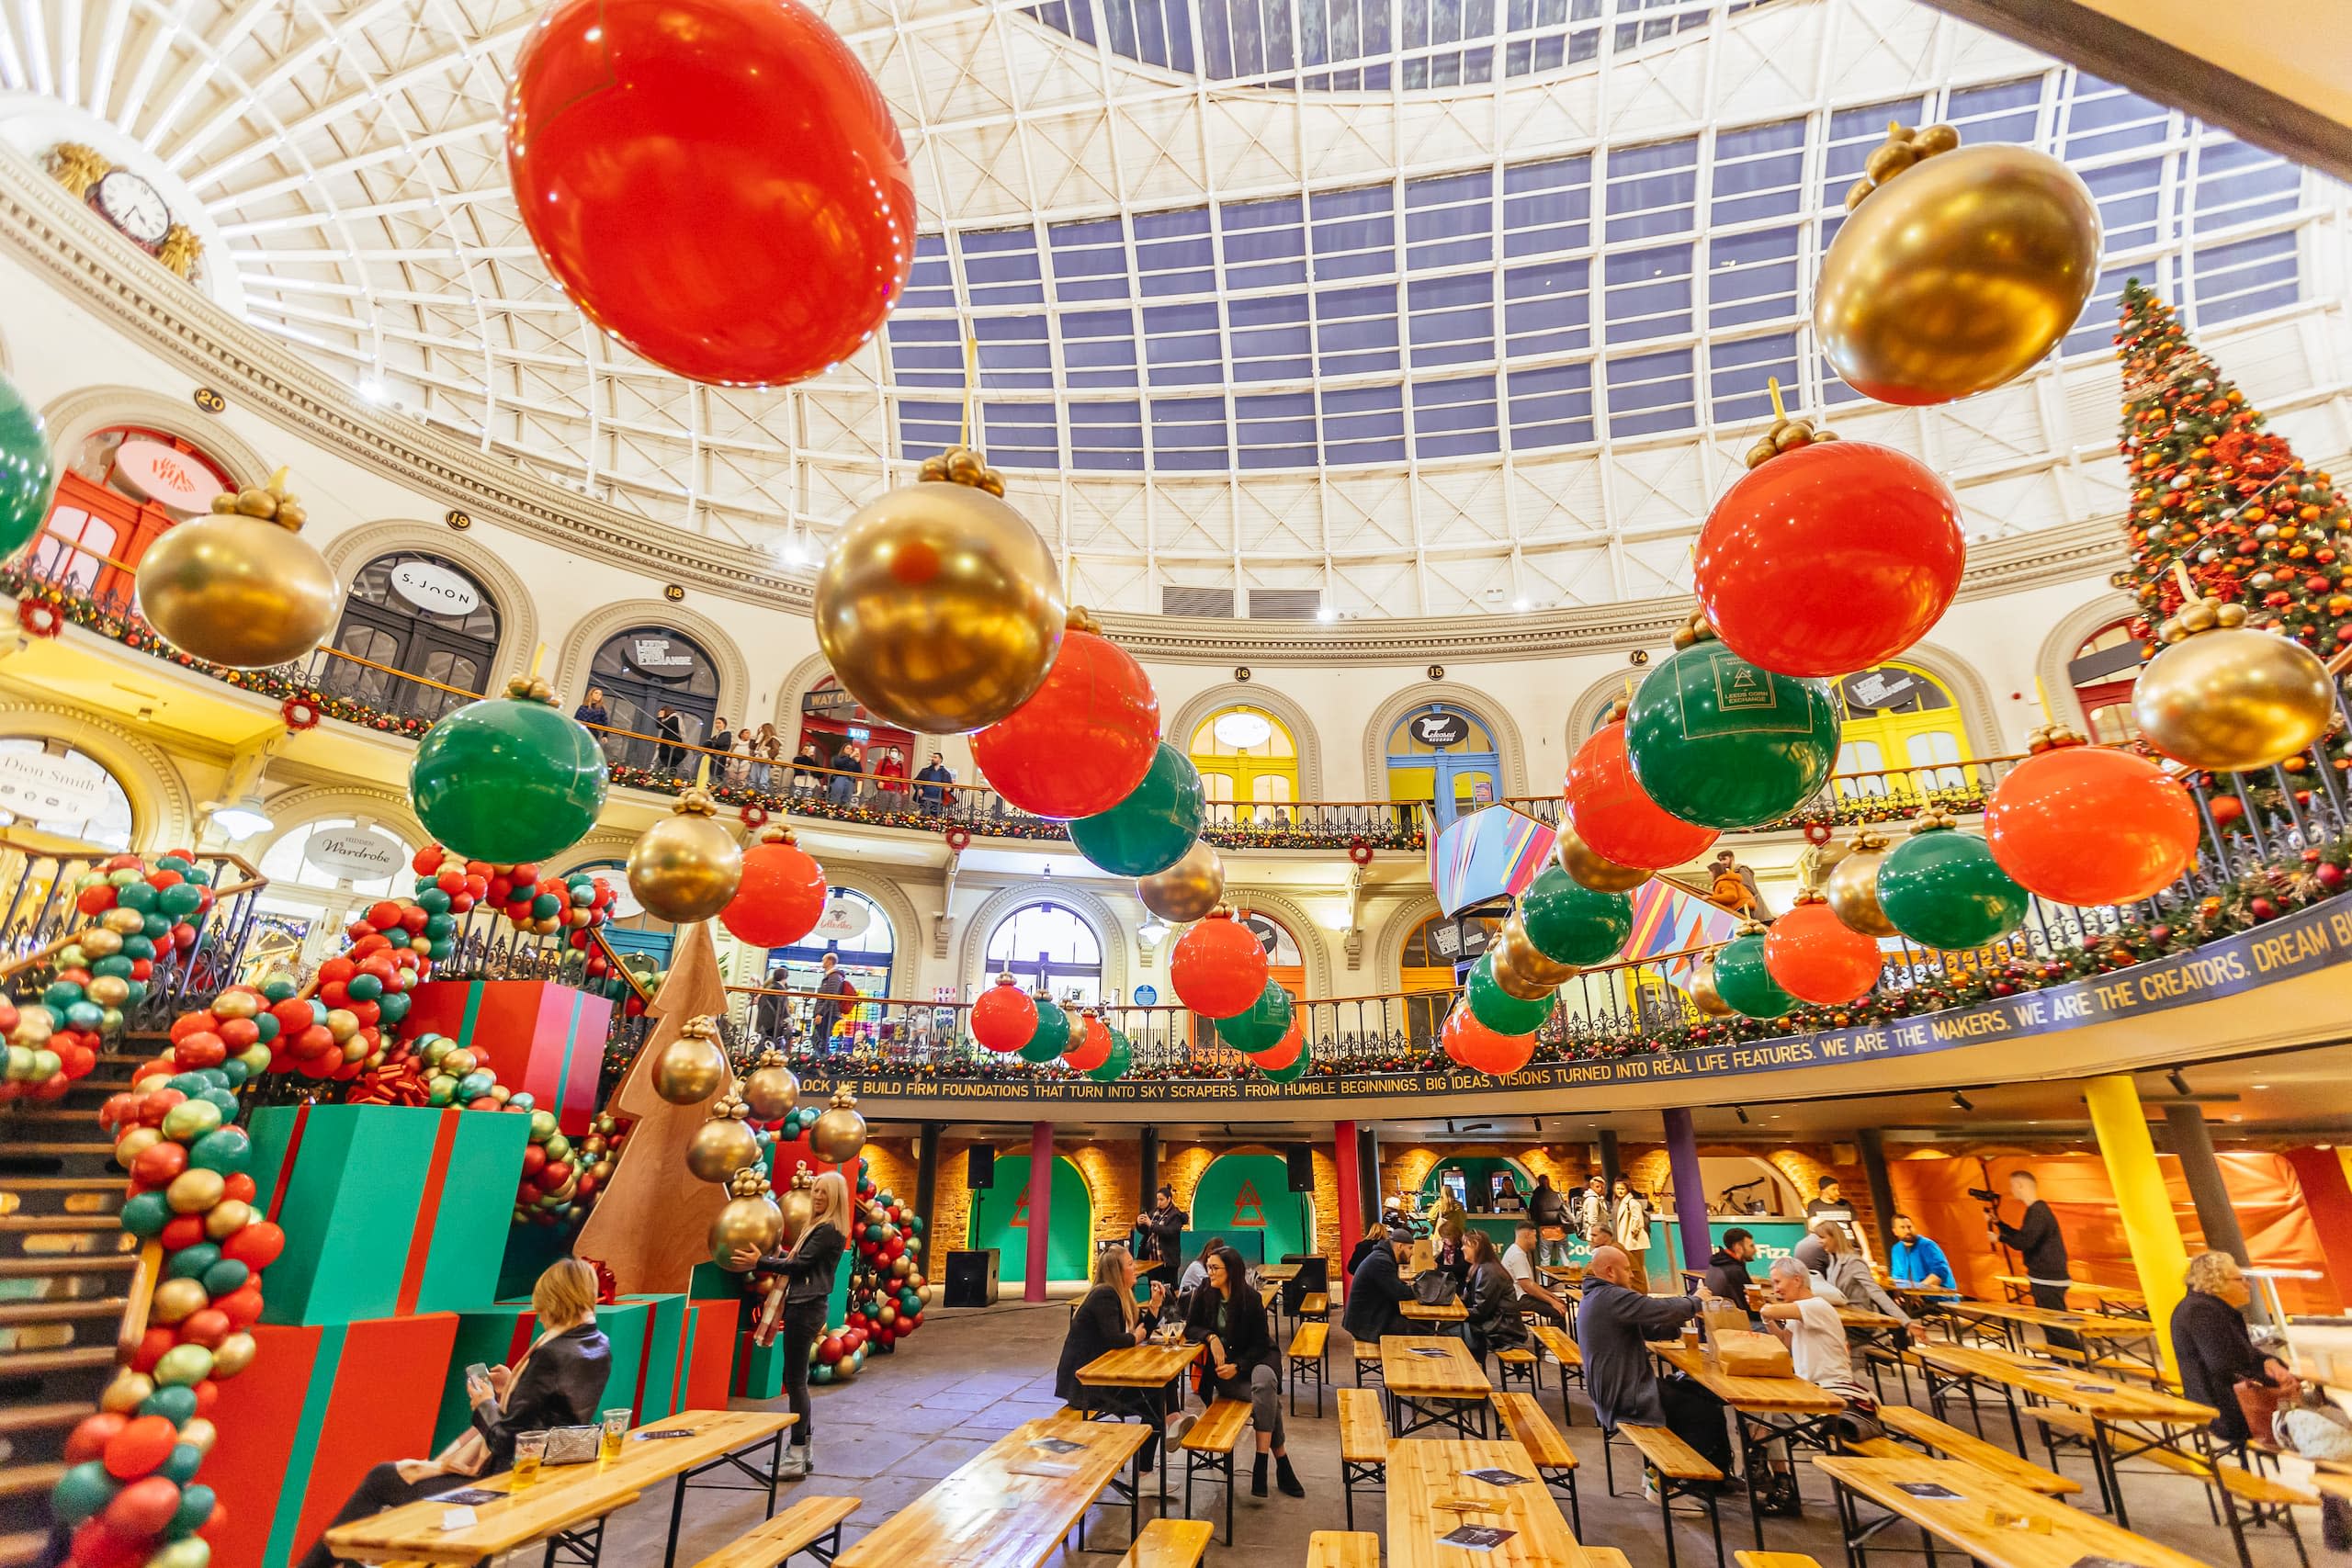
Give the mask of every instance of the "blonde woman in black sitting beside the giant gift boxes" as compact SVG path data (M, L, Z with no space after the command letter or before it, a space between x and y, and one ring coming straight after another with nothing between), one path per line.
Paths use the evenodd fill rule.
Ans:
M327 1528L416 1502L515 1467L515 1434L550 1427L586 1427L597 1420L604 1380L612 1373L612 1340L595 1326L595 1269L579 1258L557 1258L532 1286L539 1338L513 1368L494 1366L466 1380L473 1422L430 1460L376 1465L350 1493ZM310 1542L299 1568L332 1568L327 1533Z

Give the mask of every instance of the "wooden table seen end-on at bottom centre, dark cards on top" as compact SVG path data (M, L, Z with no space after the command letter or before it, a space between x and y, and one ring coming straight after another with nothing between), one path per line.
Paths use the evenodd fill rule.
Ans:
M1526 1483L1489 1486L1465 1474L1472 1469L1508 1469ZM1437 1540L1465 1523L1510 1530L1510 1540L1491 1552ZM1388 1446L1390 1568L1588 1568L1590 1561L1519 1443L1399 1436Z

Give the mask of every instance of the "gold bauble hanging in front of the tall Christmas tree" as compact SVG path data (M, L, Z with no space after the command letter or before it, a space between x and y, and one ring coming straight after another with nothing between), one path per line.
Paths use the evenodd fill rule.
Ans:
M2237 611L2234 616L2230 611ZM2300 642L2258 632L2237 604L2213 630L2157 649L2131 686L2140 736L2173 762L2241 773L2286 762L2336 719L2336 684Z

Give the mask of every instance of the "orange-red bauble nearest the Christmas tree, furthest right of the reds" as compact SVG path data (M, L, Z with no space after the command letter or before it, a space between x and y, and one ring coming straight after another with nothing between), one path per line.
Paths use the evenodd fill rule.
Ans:
M2074 905L2133 903L2197 858L2197 804L2147 757L2056 745L1992 788L1985 844L2030 893Z

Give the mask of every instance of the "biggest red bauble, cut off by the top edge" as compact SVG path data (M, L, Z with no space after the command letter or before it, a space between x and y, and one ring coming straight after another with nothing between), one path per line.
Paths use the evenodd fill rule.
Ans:
M560 0L515 59L506 174L581 315L694 381L847 360L915 261L898 125L800 0Z

